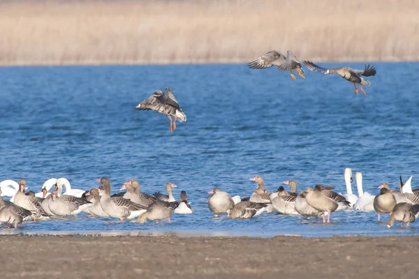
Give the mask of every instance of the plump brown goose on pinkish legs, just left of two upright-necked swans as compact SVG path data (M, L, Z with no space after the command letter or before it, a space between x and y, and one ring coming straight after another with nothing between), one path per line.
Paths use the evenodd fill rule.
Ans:
M330 213L337 210L339 204L335 199L330 197L332 191L324 190L323 186L316 185L313 189L306 189L307 204L314 209L323 212L323 223L325 223L325 212L328 213L328 223L330 223Z

